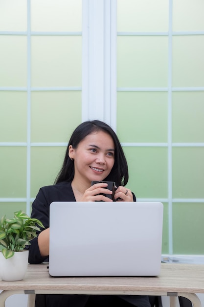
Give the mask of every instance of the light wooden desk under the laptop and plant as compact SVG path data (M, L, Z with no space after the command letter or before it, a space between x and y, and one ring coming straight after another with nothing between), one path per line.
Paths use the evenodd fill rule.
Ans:
M49 276L46 264L33 264L23 281L0 281L0 290L0 307L17 293L162 295L170 297L171 307L177 306L177 296L183 296L201 307L195 293L204 293L204 265L162 263L158 277L56 278Z

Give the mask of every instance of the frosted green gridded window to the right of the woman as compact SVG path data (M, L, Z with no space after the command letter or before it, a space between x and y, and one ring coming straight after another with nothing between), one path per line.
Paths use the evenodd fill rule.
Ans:
M117 133L164 254L204 254L204 2L117 1Z

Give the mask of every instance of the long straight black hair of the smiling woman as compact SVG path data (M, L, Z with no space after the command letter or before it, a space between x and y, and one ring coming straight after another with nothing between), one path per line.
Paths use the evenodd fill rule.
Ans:
M104 179L106 181L114 181L116 186L125 186L128 182L128 164L125 158L125 154L120 145L117 135L113 129L104 122L93 120L87 121L80 124L72 133L70 140L68 142L67 151L65 154L65 159L62 168L55 179L54 183L60 183L63 181L71 182L74 178L74 161L72 161L69 156L69 145L72 145L74 149L77 148L78 144L89 134L97 131L104 131L108 133L112 139L115 146L114 153L114 165L110 174Z

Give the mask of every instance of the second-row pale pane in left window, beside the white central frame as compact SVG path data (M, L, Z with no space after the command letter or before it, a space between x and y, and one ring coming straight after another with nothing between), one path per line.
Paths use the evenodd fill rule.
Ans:
M81 86L81 36L33 36L32 86Z

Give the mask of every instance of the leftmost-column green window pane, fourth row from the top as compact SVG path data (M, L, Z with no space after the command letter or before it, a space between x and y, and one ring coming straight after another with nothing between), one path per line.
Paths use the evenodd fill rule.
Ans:
M0 198L26 197L26 148L1 147Z

